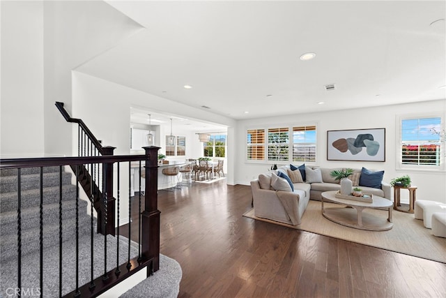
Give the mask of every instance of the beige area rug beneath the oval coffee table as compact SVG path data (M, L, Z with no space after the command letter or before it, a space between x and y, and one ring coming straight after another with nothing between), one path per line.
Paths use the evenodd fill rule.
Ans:
M337 204L324 203L324 208L336 207ZM387 218L387 211L364 209L364 212ZM289 228L314 232L324 236L343 239L359 244L413 255L415 257L446 263L446 238L435 237L430 229L424 228L423 221L415 219L413 214L392 211L393 228L387 231L365 231L348 228L329 221L322 216L321 202L310 200L302 216L302 223L295 227L254 216L250 209L243 216L266 221Z

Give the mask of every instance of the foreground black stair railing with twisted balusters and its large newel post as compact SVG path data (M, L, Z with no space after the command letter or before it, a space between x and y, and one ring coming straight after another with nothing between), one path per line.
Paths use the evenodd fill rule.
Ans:
M11 270L11 274L15 274L17 276L17 281L14 285L1 285L0 288L15 288L19 289L20 291L26 290L29 288L38 288L38 295L40 297L96 297L109 288L112 288L114 285L121 283L125 280L125 278L128 278L129 276L132 276L132 274L136 273L137 271L146 268L147 269L147 276L153 273L154 271L157 271L159 269L159 255L160 255L160 211L157 210L157 151L159 147L144 147L146 150L145 155L129 155L129 156L86 156L86 157L66 157L66 158L22 158L22 159L0 159L0 170L3 169L17 169L17 259L13 258L13 261L17 261L17 264L15 266L16 269ZM129 224L129 240L128 240L128 247L123 248L119 245L120 237L119 232L117 232L116 237L116 251L112 251L110 245L111 242L107 241L109 237L113 237L107 234L110 234L109 231L107 231L109 227L109 214L107 209L107 205L111 204L114 199L110 198L107 195L107 183L106 180L108 179L106 172L109 170L114 170L116 168L116 172L118 173L116 179L118 181L118 191L117 191L117 198L116 198L116 215L117 215L117 223L119 225L120 221L120 215L121 215L121 207L122 207L122 195L126 192L121 192L119 181L121 181L121 166L123 163L128 163L128 169L130 173L130 162L132 161L138 161L140 165L139 170L144 170L146 173L146 186L145 186L145 196L144 196L144 209L141 210L141 196L139 196L139 218L140 221L134 221L135 223L138 223L138 232L141 234L141 237L139 237L137 242L138 247L138 253L133 253L133 257L130 255L130 235L132 232L132 225ZM145 162L145 167L141 167L141 161ZM89 225L90 234L84 234L81 235L79 233L79 228L81 227L81 223L79 222L80 214L79 214L79 202L81 202L81 199L79 198L79 182L77 182L77 189L76 189L76 198L75 198L75 226L69 227L70 230L75 230L75 241L74 241L74 249L75 249L75 259L76 260L66 260L64 259L64 253L66 253L66 250L72 249L72 247L69 246L69 244L66 244L66 241L72 241L72 239L66 239L66 225L67 223L63 223L63 216L64 209L63 209L63 190L62 190L62 183L63 183L63 167L66 165L70 165L71 167L75 167L77 171L82 169L82 167L79 167L79 165L84 165L85 167L90 167L90 170L92 170L93 165L100 165L100 167L103 167L105 171L103 172L102 179L105 181L102 181L102 200L103 204L105 205L104 210L104 216L101 218L98 218L98 225L102 225L102 227L105 229L104 233L102 235L95 234L93 232L94 229L94 218L93 218L93 204L91 204L90 209L90 222L86 222L86 225ZM27 167L40 167L40 201L39 201L39 237L38 237L38 266L40 267L39 270L34 271L34 274L37 274L37 276L29 276L29 274L26 274L26 276L23 276L22 268L25 266L30 266L30 264L27 264L26 262L23 262L24 256L24 246L22 245L22 223L26 223L26 219L24 218L24 214L22 214L22 170ZM43 172L45 167L59 167L59 170L56 172L59 174L59 231L56 235L54 235L55 239L58 239L58 241L53 241L53 245L59 246L59 253L52 253L52 255L45 255L45 250L48 250L47 244L45 244L45 239L49 237L47 234L45 234L45 230L43 228L43 211L44 211L44 204L43 204L43 185L47 182L43 179ZM111 168L110 168L111 167ZM79 172L75 172L75 174L78 176ZM90 183L92 183L93 177L89 176ZM131 203L131 197L130 197L130 177L129 177L129 198L128 198L128 204ZM90 193L87 193L90 200L93 200L93 188L90 188ZM130 210L130 206L129 206ZM132 221L131 218L131 212L129 211L129 221ZM82 223L84 225L84 223ZM115 221L112 222L113 230L115 230ZM119 230L119 229L116 229ZM79 237L82 238L82 241L79 241ZM103 237L103 252L102 253L95 253L93 251L93 247L95 247L95 244L97 244L98 239L95 239L95 237ZM107 238L108 237L108 238ZM70 237L68 237L70 238ZM85 243L85 239L88 240L88 244ZM95 239L96 242L93 240ZM72 242L69 242L72 243ZM31 244L33 245L33 244ZM45 246L46 245L46 246ZM35 245L33 245L35 246ZM128 253L123 252L123 249L128 249ZM135 248L133 248L135 249ZM79 255L79 251L82 250L82 257ZM89 253L89 258L86 258L86 251ZM110 259L107 262L107 258L109 258L110 254L116 253L116 265L114 265L113 268L110 268L110 262L114 262L112 259ZM119 261L119 255L127 255L127 260L123 262L123 264L120 264ZM35 253L34 253L35 255ZM54 258L59 258L59 260L54 260ZM46 260L44 263L43 260ZM13 262L11 261L11 262ZM67 267L68 262L68 267ZM121 259L122 262L122 259ZM47 265L48 263L52 264L59 264L59 270L57 273L55 272L47 272L45 271L44 265ZM84 276L86 270L82 270L82 266L85 266L88 263L87 267L91 267L91 271L89 272L89 276ZM8 264L8 263L3 263ZM95 267L98 267L98 265L103 265L102 274L98 275L98 271L96 269L95 273ZM68 270L68 273L67 271ZM79 275L80 274L80 275ZM45 276L45 278L44 278ZM54 279L50 279L49 276L54 276L54 279L57 279L57 282ZM74 281L67 281L68 278L74 279ZM32 283L32 284L30 284ZM66 284L73 284L74 289L67 291L66 290ZM52 291L52 285L59 284L57 292L51 292ZM83 284L83 285L82 285ZM49 286L51 285L51 286ZM5 293L0 292L0 296L2 296ZM19 294L22 294L22 292L19 292ZM25 294L25 292L24 292ZM19 295L22 296L22 295Z

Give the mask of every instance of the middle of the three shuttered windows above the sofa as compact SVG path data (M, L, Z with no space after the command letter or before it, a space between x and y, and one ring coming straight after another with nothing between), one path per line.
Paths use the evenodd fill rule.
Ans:
M268 161L289 160L289 128L268 129Z

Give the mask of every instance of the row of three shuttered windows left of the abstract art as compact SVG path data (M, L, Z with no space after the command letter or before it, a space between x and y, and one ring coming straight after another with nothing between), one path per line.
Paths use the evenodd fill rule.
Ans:
M266 140L268 133L268 140ZM316 161L316 126L247 130L247 161Z

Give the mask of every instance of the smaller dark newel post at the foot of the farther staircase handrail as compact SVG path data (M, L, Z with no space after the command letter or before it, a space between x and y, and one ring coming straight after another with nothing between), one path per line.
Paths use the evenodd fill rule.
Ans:
M114 155L113 151L116 147L106 146L102 147L102 156ZM100 211L100 225L98 225L98 232L103 235L112 234L114 236L115 227L114 227L114 212L115 212L115 201L116 199L113 196L113 163L104 163L102 164L102 173L105 177L105 191L107 193L107 225L104 225L104 207L105 204L101 204ZM105 195L105 193L102 193Z

